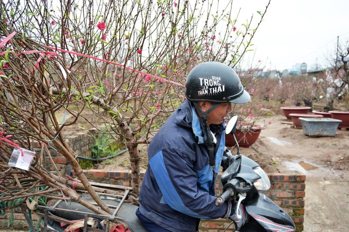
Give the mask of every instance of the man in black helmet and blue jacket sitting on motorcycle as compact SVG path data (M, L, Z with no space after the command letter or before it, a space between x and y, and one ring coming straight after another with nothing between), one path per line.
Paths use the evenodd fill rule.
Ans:
M187 99L148 149L136 215L149 232L195 232L200 219L235 219L231 202L214 205L214 187L225 151L224 120L231 103L246 103L250 95L237 74L218 62L195 66L185 87Z

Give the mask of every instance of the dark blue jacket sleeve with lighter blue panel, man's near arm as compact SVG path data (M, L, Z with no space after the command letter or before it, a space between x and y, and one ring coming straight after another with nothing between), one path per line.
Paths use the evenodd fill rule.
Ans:
M161 203L200 219L223 218L226 215L227 203L216 207L216 198L197 187L197 173L193 170L192 160L185 154L166 148L155 154L149 164L163 195Z

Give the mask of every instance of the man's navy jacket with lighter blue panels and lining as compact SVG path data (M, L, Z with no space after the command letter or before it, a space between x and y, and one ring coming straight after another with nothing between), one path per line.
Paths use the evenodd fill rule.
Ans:
M225 148L224 130L216 133L216 139L214 169L218 173ZM195 232L200 219L225 216L228 204L214 205L213 168L199 118L188 100L153 138L148 156L140 191L142 215L172 232Z

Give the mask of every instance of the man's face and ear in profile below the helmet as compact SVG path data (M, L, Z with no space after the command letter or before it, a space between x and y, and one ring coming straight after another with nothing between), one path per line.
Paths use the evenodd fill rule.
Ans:
M205 102L205 104L203 105L205 107L205 111L203 110L203 112L206 112L213 105L214 103ZM207 115L207 125L221 124L225 120L229 112L231 112L231 103L220 103L214 110L212 110Z

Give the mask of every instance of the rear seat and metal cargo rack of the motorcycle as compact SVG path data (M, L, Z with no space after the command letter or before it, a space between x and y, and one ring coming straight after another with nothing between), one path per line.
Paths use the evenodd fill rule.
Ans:
M53 199L47 203L48 206L35 207L36 210L43 212L38 214L44 218L42 222L43 232L147 232L135 214L138 206L125 202L125 199L133 195L130 193L131 187L93 182L90 182L90 184L92 186L107 187L118 192L124 192L121 195L98 193L99 198L114 211L113 215L98 215L79 203ZM82 196L85 200L97 206L86 191L82 192ZM115 226L116 224L112 222L114 219L121 222L125 227L123 225L121 227ZM72 223L73 227L69 229L68 227Z

